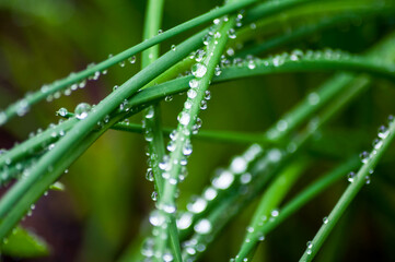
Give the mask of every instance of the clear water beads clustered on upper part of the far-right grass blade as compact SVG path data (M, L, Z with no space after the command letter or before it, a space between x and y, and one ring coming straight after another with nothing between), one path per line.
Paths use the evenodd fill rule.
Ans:
M387 120L388 120L388 124L392 124L394 122L394 116L392 116L392 115L388 116ZM369 162L375 154L377 154L377 150L380 150L382 147L383 142L388 136L388 134L390 134L388 127L386 127L384 124L380 126L379 131L377 131L377 138L374 139L372 142L372 146L373 146L372 152L369 153L367 151L363 151L362 153L359 154L359 157L363 165L369 165ZM374 172L374 169L371 168L368 170L368 172L369 174L365 175L365 177L364 177L367 184L369 184L371 182L370 175L372 175ZM357 174L355 171L350 171L347 175L347 180L349 182L353 182L356 178L357 178Z

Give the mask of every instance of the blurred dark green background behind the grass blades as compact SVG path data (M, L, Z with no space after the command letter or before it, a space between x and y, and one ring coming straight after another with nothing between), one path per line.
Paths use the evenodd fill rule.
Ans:
M176 1L164 5L163 28L173 27L220 5L219 0ZM0 108L35 91L45 83L98 62L142 38L146 1L139 0L5 0L0 1ZM306 39L274 50L294 48L341 48L362 52L395 28L394 17L373 17L345 23ZM291 24L284 24L283 31ZM279 32L281 33L281 32ZM189 32L190 34L190 32ZM187 34L161 45L166 51ZM265 55L264 55L265 56ZM113 86L139 71L139 60L125 68L114 67L84 90L40 103L24 118L0 129L0 147L10 148L28 133L57 122L56 110L73 110L81 102L98 103ZM263 132L309 91L332 74L302 73L270 75L218 85L211 90L208 110L201 114L204 130ZM297 184L301 189L312 179L341 163L347 156L370 148L376 128L395 112L395 85L374 81L323 130L312 145L328 152L330 159L315 164ZM163 104L163 122L175 127L185 96ZM141 116L130 120L140 122ZM117 261L131 247L139 248L140 234L150 231L147 216L153 207L153 184L146 180L146 144L141 135L108 131L77 163L61 181L63 192L50 192L36 204L23 225L42 236L51 247L50 255L32 260L4 261ZM245 146L204 141L194 142L189 176L181 184L178 203L184 207L210 181L217 167ZM324 245L318 261L394 261L395 174L394 146L385 154L372 183L362 190ZM345 175L346 176L346 175ZM301 210L271 234L256 254L256 261L294 261L305 242L318 229L342 190L346 178L330 191ZM295 190L297 192L297 190ZM240 247L254 204L226 230L202 261L228 261ZM284 252L286 251L286 252ZM336 251L334 253L334 251Z

